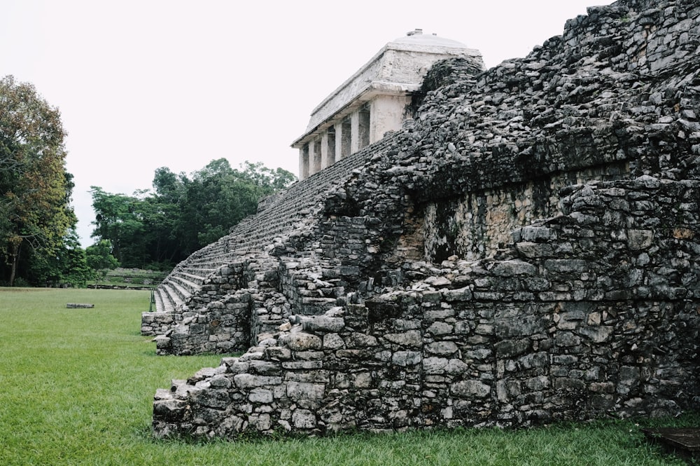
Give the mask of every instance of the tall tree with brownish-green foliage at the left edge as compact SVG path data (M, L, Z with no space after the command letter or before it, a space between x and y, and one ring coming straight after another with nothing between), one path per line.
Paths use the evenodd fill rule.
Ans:
M10 286L27 275L22 263L55 256L77 223L65 135L58 109L33 85L0 80L0 256Z

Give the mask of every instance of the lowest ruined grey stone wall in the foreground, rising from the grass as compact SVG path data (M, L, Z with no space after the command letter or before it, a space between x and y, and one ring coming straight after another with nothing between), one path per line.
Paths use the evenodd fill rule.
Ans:
M158 392L159 435L237 437L661 415L700 404L700 181L573 186L509 259L292 317ZM607 219L607 222L601 219Z

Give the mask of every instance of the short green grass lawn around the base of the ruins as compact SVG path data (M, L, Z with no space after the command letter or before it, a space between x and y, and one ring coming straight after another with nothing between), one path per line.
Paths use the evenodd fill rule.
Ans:
M633 421L238 442L151 437L152 399L218 356L157 357L150 292L0 288L0 465L685 465ZM94 303L66 309L66 303ZM697 425L638 420L647 425Z

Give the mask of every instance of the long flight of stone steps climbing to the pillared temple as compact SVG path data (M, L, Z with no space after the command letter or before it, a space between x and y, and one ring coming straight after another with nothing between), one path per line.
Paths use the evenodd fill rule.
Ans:
M202 303L207 302L207 296L199 299L200 294L207 293L203 291L203 287L206 288L210 283L221 285L223 280L227 280L223 277L226 273L222 273L222 268L227 268L241 258L267 252L275 256L295 257L297 250L290 238L302 240L304 233L310 232L314 227L317 218L315 214L323 209L323 200L328 193L335 189L335 186L342 185L345 179L352 176L353 171L370 162L370 158L376 156L377 151L391 146L397 136L398 133L389 135L362 151L338 160L325 170L293 184L283 193L262 200L257 214L247 217L233 227L229 235L193 253L172 270L155 290L157 315L163 315L169 322L181 322L183 313L188 312L190 308L199 308ZM269 262L267 264L269 266ZM300 280L304 285L307 281ZM245 280L233 284L230 289L241 286L246 287ZM302 290L301 293L304 292ZM302 299L305 304L300 311L309 310L310 313L325 312L332 301L332 297L318 296L318 293L315 296L302 296ZM158 321L158 317L146 314L148 313L144 314L141 333L162 334L167 325L146 322L154 319Z

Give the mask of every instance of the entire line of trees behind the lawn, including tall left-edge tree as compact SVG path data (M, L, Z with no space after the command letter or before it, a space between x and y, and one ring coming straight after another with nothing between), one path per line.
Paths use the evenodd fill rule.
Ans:
M172 267L295 177L213 160L191 178L156 170L153 191L92 188L94 245L80 247L60 113L30 83L0 79L0 286L85 286L106 268Z

